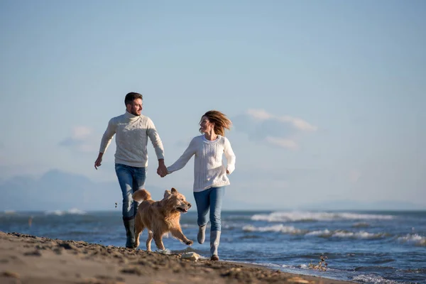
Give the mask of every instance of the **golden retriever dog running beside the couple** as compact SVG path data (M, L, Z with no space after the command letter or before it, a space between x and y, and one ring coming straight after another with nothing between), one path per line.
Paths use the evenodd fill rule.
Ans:
M139 246L139 236L143 229L148 229L147 251L151 251L152 239L159 250L164 250L163 236L169 232L188 246L193 244L193 241L187 239L180 228L180 213L188 212L191 204L178 190L175 188L165 190L164 198L160 201L152 200L148 190L136 190L132 197L138 202L143 200L139 204L135 217L135 248Z

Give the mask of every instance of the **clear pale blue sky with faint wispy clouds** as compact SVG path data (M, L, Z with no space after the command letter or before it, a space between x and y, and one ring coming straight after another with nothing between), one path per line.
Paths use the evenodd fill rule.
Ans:
M125 94L141 92L167 165L205 111L234 121L229 198L426 207L425 13L425 1L1 1L0 180L116 180L115 141L94 160ZM147 188L191 195L193 160L161 179L148 151Z

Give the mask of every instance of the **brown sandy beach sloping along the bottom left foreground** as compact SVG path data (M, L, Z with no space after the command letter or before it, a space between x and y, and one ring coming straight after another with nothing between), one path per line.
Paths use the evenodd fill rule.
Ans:
M0 283L350 283L187 256L0 231Z

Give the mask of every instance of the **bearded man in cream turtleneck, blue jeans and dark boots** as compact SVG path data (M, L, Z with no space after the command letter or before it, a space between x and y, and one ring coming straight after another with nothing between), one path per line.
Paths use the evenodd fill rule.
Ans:
M123 194L123 222L126 228L126 248L133 248L135 243L135 216L138 202L131 195L145 185L148 153L148 137L153 143L158 158L157 173L164 176L167 168L164 164L164 148L160 136L148 116L141 115L142 95L130 92L124 99L126 112L109 120L107 130L102 136L99 155L94 168L102 163L102 156L116 135L115 170Z

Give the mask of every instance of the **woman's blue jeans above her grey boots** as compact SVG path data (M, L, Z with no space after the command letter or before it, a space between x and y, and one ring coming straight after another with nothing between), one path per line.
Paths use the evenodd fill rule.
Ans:
M225 195L225 187L210 187L201 192L194 192L197 204L197 224L204 226L209 221L207 213L210 211L210 231L221 231L222 198Z

